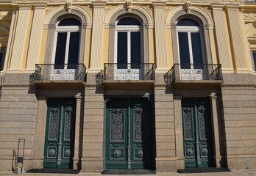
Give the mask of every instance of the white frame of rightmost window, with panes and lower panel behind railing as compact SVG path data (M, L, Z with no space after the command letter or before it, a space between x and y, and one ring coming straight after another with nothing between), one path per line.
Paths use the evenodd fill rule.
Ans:
M182 20L186 19L189 18ZM193 19L189 20L195 21ZM197 21L195 22L197 23ZM205 39L201 26L177 25L177 49L180 64L179 76L181 79L202 80L207 78Z

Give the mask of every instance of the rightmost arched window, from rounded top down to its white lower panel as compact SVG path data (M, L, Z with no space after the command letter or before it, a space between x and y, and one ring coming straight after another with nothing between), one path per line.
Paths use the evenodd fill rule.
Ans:
M181 68L199 69L206 63L202 28L191 18L177 21L177 43Z

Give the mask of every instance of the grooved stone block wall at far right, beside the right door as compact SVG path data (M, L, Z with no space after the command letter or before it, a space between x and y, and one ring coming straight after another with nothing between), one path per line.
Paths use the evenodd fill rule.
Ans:
M255 87L222 87L221 91L228 167L256 168Z

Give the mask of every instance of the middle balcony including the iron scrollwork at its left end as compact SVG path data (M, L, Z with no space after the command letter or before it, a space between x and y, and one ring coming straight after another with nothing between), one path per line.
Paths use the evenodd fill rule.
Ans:
M104 64L96 76L97 84L154 83L154 64Z

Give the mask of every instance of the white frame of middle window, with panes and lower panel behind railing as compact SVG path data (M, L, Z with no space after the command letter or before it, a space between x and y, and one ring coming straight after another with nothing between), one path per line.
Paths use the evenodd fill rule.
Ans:
M135 20L139 21L136 18ZM139 22L141 23L141 21ZM122 37L124 40L121 40ZM137 50L138 42L140 46L139 51ZM114 48L115 79L140 79L143 76L143 66L141 63L144 63L142 25L119 25L118 21L116 21ZM133 52L132 50L137 51ZM122 58L120 58L118 53L120 53ZM137 57L137 59L133 57Z

